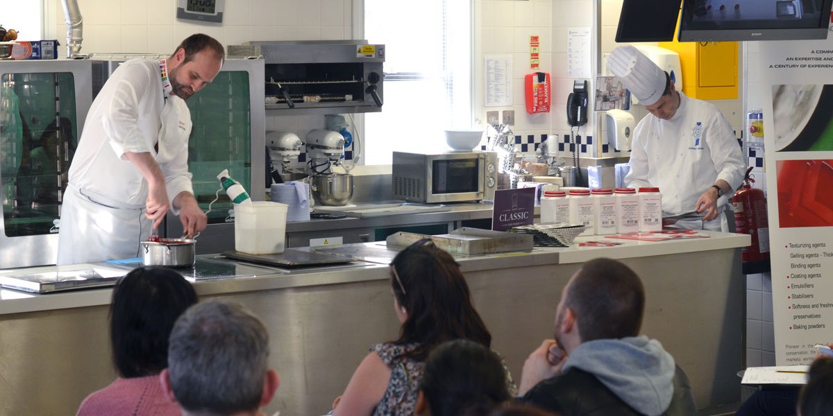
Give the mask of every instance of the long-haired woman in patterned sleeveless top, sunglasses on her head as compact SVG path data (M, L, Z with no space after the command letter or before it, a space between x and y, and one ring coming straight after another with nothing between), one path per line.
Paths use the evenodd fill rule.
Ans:
M491 344L460 265L431 240L416 241L397 254L391 262L391 290L402 323L399 339L371 347L336 400L336 416L412 415L432 350L451 339L486 348Z

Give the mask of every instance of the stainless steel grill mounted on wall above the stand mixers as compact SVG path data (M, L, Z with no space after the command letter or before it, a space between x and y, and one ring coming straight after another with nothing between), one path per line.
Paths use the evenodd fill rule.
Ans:
M382 111L385 45L257 41L229 47L229 52L266 60L267 116Z

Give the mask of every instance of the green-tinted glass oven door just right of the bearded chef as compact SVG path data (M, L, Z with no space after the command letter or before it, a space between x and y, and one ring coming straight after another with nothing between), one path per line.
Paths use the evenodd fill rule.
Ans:
M211 84L188 100L193 129L188 142L188 166L194 194L207 210L221 189L217 174L227 169L252 191L252 125L248 72L220 72ZM224 222L232 201L224 192L211 205L210 223Z

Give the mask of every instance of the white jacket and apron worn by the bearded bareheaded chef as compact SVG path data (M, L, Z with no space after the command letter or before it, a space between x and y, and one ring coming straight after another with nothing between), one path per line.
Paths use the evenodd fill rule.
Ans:
M69 167L58 265L138 255L139 241L150 234L147 181L125 152L153 156L169 203L182 191L193 193L187 166L191 113L170 91L164 61L132 59L112 73L92 102ZM173 207L172 212L179 214Z

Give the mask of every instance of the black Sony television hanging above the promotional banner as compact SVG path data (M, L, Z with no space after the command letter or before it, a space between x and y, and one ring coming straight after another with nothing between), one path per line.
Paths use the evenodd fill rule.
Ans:
M684 0L680 42L826 39L833 0Z

